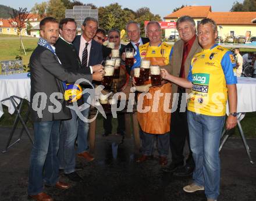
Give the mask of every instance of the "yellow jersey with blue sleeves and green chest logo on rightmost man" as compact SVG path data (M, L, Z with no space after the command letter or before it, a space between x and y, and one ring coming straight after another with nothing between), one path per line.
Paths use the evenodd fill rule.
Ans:
M187 77L193 84L187 109L208 116L224 116L226 85L237 83L234 66L232 52L217 44L195 54Z

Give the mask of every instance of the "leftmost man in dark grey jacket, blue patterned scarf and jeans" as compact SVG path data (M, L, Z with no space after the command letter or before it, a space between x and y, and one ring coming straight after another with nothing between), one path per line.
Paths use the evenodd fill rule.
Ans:
M68 71L59 63L54 44L59 37L59 23L53 17L40 22L38 46L30 57L31 107L35 142L30 155L29 197L35 200L52 200L43 191L43 184L59 189L69 188L58 181L59 126L61 120L70 119L71 114L63 100L62 81L75 82L79 78L102 80L102 73L93 76Z

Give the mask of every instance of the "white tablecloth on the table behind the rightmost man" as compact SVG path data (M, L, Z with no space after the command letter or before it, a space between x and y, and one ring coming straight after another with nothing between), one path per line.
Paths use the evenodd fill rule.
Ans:
M256 78L237 77L237 113L256 111ZM227 114L229 107L227 102Z

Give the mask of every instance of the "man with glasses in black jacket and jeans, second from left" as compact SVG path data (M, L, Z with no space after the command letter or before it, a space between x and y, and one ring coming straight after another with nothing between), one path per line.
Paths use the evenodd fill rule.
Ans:
M81 67L78 53L72 45L72 42L76 37L76 21L72 18L62 19L59 23L59 28L61 37L59 37L59 40L55 44L55 51L62 63L62 66L70 71L76 70L86 73L88 77L91 77L90 68ZM79 104L81 105L81 103L82 102ZM70 105L72 104L70 103ZM75 172L76 154L74 150L74 143L77 137L78 126L83 124L83 121L78 118L74 110L71 110L71 114L72 119L61 122L58 152L59 168L64 171L66 177L70 180L80 181L81 177Z

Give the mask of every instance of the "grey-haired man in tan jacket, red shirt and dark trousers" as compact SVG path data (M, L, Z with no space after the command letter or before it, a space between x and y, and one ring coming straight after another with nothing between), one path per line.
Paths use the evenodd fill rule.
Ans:
M173 46L172 59L170 60L170 73L174 76L187 77L191 59L201 51L198 44L197 35L195 34L195 22L190 16L182 16L176 22L177 31L179 31L180 39ZM171 100L177 106L175 112L172 113L170 124L170 151L172 153L172 163L169 167L163 168L163 171L173 172L176 176L188 176L193 173L194 160L191 150L189 149L189 157L184 166L183 148L186 138L189 141L189 128L187 125L187 107L185 93L190 93L189 89L178 87L172 84Z

